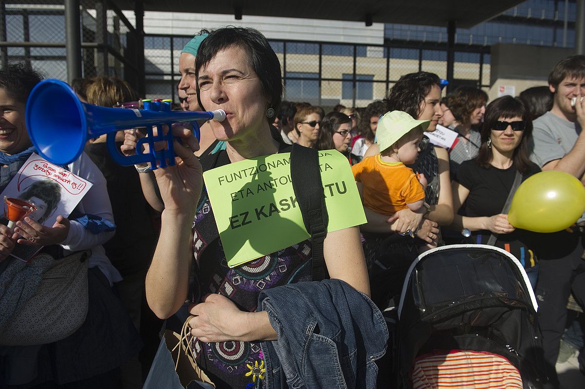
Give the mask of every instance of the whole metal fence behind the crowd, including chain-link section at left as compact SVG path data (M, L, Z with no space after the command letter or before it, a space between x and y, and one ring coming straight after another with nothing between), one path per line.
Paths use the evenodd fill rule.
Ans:
M39 0L42 2L43 0ZM117 75L146 98L177 100L178 57L191 36L146 35L142 44L110 0L81 0L81 64L85 78ZM0 66L25 61L45 77L66 80L64 5L0 2ZM284 99L330 108L366 106L386 96L402 74L431 71L447 77L447 51L440 44L389 41L384 45L270 40L280 60ZM486 46L459 47L455 84L488 88ZM140 52L139 52L140 51Z

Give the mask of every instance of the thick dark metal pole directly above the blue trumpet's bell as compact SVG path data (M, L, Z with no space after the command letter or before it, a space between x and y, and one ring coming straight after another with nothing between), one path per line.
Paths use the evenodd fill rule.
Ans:
M81 22L80 0L65 0L65 48L67 53L67 81L81 77Z

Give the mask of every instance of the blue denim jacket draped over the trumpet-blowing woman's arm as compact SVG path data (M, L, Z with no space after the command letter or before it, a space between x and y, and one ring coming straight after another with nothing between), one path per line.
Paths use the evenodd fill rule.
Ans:
M266 389L375 388L374 361L386 353L388 328L362 292L340 280L262 291L278 340L261 342Z

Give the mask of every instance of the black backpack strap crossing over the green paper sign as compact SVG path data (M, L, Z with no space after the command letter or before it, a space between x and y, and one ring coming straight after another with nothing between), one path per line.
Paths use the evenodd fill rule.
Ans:
M329 217L319 169L319 153L315 149L294 144L291 152L292 189L307 232L311 234L312 279L329 278L323 257L323 242L327 236Z

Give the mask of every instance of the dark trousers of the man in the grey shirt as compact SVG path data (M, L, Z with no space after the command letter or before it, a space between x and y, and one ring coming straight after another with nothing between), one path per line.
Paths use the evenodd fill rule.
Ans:
M559 380L555 364L560 338L565 332L570 292L573 292L581 307L585 306L585 260L581 259L583 239L579 233L558 232L549 235L546 239L548 247L542 253L538 252L541 261L536 301L549 376L548 387L556 388Z

